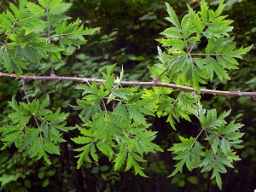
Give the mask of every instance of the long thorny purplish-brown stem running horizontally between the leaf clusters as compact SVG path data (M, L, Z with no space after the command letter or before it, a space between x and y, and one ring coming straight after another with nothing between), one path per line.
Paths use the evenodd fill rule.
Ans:
M12 73L1 73L0 72L0 78L1 77L9 77L9 78L15 78L15 79L26 79L26 80L56 80L56 81L79 81L80 83L83 82L93 82L96 83L104 83L106 80L104 79L95 79L95 78L76 78L76 77L59 77L59 76L29 76L29 75L20 75L17 78L17 75ZM117 82L114 81L116 84L122 84L126 86L145 86L145 87L167 87L171 88L173 90L187 90L190 92L194 92L195 90L192 87L177 85L177 84L166 84L166 83L160 83L157 81L153 82L139 82L139 81L121 81ZM195 91L196 92L196 91ZM201 94L212 94L212 95L218 95L218 96L253 96L256 97L256 92L242 92L242 91L223 91L223 90L207 90L207 89L201 89Z

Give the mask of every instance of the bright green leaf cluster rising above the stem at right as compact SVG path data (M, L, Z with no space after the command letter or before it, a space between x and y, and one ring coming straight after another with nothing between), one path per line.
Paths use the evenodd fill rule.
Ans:
M232 20L225 20L220 16L224 9L224 1L220 1L218 9L214 12L208 8L205 1L201 2L201 11L195 11L189 6L189 13L183 16L181 22L172 7L166 3L170 21L174 27L161 32L165 38L158 39L166 47L166 53L159 49L159 57L164 67L154 73L168 76L168 82L192 86L200 93L200 84L206 84L213 79L216 73L218 79L230 79L228 70L237 69L238 62L235 58L247 53L252 46L235 48L234 38L228 32L232 30ZM207 38L205 53L198 53L194 49L202 38ZM166 55L168 54L168 55Z

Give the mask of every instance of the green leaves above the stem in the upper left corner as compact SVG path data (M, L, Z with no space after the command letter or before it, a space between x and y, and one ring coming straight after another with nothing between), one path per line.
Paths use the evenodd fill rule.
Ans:
M73 54L72 45L79 48L86 42L84 35L99 29L84 30L79 19L67 25L71 18L63 14L70 6L46 0L38 5L20 0L19 8L10 3L11 12L0 15L0 32L4 34L0 61L9 73L20 75L29 64L38 65L47 58L60 62L61 54Z

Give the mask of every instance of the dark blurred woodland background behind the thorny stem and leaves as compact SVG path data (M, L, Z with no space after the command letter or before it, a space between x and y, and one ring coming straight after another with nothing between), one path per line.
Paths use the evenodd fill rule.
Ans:
M9 2L0 0L0 11L9 7ZM36 1L33 1L36 2ZM64 63L55 64L55 72L59 76L95 77L101 78L102 71L110 64L117 63L124 66L125 80L152 81L148 73L148 66L159 62L156 58L157 45L155 39L160 38L160 32L169 23L165 2L170 3L181 19L186 14L189 3L194 9L199 8L198 0L66 0L73 3L67 15L76 20L79 18L86 27L101 27L100 32L87 37L88 43L77 49L74 55L64 58ZM207 1L213 7L218 1ZM235 20L231 36L236 37L236 46L249 46L256 43L256 1L228 0L224 15ZM3 37L0 36L0 40ZM204 49L202 41L197 49ZM70 49L75 49L70 47ZM256 86L256 49L251 49L248 55L240 61L240 69L230 73L230 81L220 82L213 79L207 84L208 89L254 91ZM1 67L0 67L1 71ZM119 71L119 70L118 70ZM39 73L38 73L39 72ZM42 63L41 67L28 69L30 75L49 75L49 65ZM18 81L8 78L0 79L0 127L7 125L9 111L8 102L17 89L20 93L16 98L23 99ZM52 106L63 108L69 116L68 124L79 124L77 113L68 107L67 103L75 104L80 96L78 90L73 90L73 82L29 81L27 94L31 98L42 98L49 94ZM202 97L205 108L217 108L224 111L232 108L231 119L236 119L245 126L244 148L239 150L241 161L236 162L234 169L222 174L222 191L254 191L256 189L256 101L250 97ZM195 136L200 129L197 122L181 121L174 131L166 123L166 119L149 119L153 123L152 130L159 131L154 140L164 149L170 148L172 143L178 142L178 135ZM17 148L11 147L0 151L0 191L53 191L53 192L84 192L84 191L219 191L216 183L210 179L210 173L200 170L189 172L183 170L175 177L167 177L174 169L174 160L170 152L148 154L147 162L143 163L148 178L135 176L134 172L113 171L113 164L103 156L99 162L84 163L79 170L76 168L77 159L73 148L77 148L70 138L79 131L69 131L63 137L67 143L61 143L61 155L51 156L52 165L44 160L35 160L17 153ZM1 138L1 136L0 136ZM0 148L2 143L0 142Z

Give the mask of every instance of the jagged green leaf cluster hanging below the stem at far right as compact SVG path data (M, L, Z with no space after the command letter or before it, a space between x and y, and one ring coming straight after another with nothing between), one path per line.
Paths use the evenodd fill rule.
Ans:
M212 171L211 178L216 178L218 187L221 189L222 181L219 173L227 172L225 166L233 168L234 160L241 160L234 149L243 147L240 144L243 133L239 131L242 125L235 124L234 120L227 125L224 118L229 114L230 111L217 117L215 109L206 110L202 108L199 111L199 116L195 114L201 122L201 132L196 138L190 137L188 139L180 136L181 143L176 143L168 149L176 155L173 159L178 161L170 177L177 174L177 172L182 172L184 165L187 166L189 171L201 168L201 172ZM206 148L198 142L198 137L203 132L207 136L204 140L211 148Z

